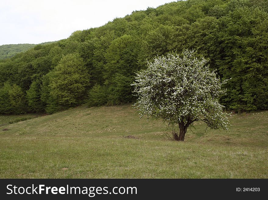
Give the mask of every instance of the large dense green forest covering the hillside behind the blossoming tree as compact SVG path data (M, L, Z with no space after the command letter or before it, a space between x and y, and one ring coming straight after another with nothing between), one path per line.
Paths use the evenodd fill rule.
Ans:
M0 60L0 113L54 113L135 101L135 72L157 55L195 49L209 59L227 109L268 108L266 0L187 0L134 11L104 26Z

